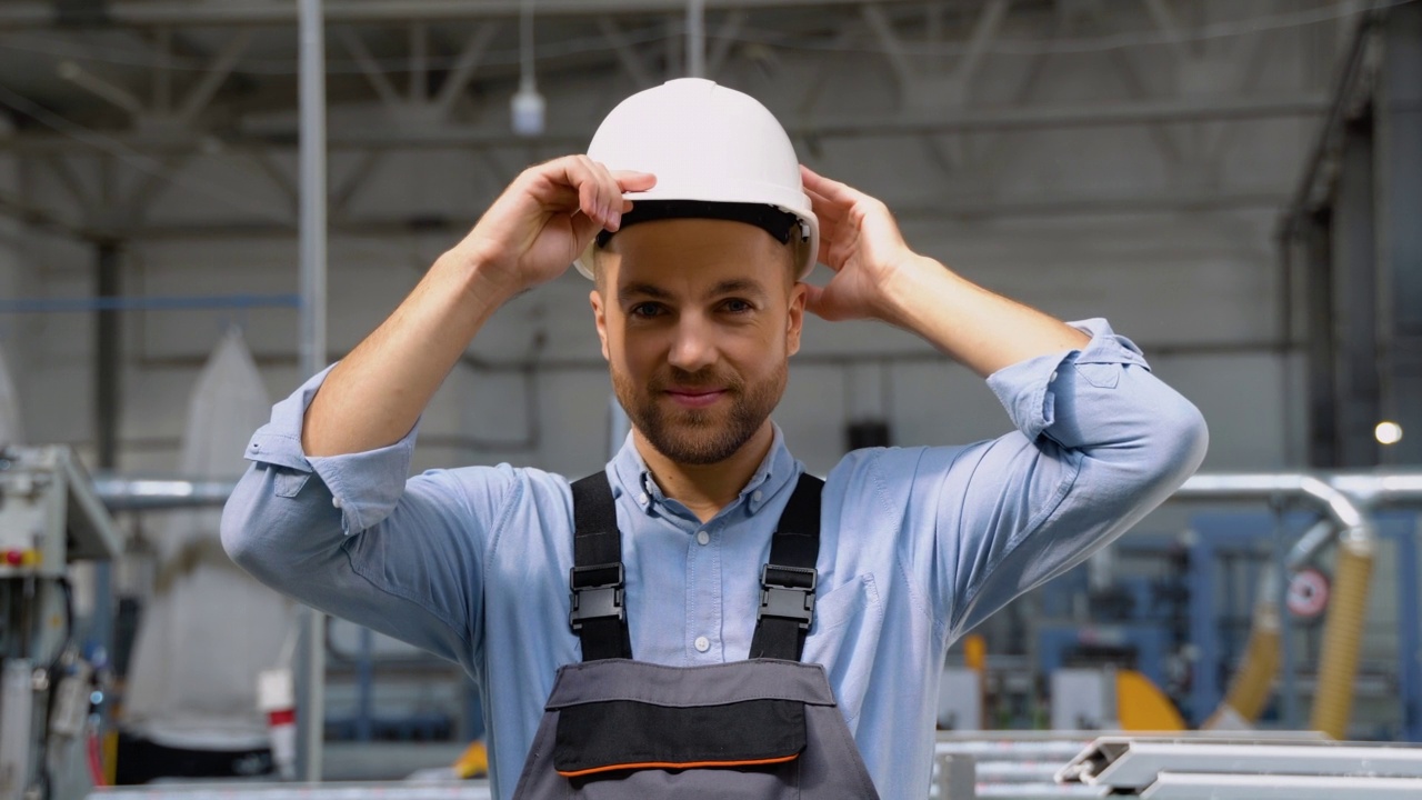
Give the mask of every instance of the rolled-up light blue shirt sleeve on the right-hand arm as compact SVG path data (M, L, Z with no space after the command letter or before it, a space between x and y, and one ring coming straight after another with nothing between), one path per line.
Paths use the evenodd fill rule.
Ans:
M1140 349L1103 319L1072 326L1082 349L988 377L1015 431L914 464L909 514L934 531L929 594L950 638L1105 547L1204 458L1204 419Z

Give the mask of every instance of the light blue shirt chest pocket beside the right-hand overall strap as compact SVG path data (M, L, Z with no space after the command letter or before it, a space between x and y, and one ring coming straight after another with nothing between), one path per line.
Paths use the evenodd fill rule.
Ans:
M883 633L884 612L875 577L857 575L815 598L815 628L805 641L803 660L829 673L845 720L853 725L869 690L873 646Z

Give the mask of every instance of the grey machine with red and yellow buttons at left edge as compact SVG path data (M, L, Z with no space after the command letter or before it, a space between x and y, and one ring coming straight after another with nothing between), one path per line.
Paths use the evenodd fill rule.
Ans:
M70 448L0 450L0 800L88 790L98 659L75 642L68 567L118 549L114 520Z

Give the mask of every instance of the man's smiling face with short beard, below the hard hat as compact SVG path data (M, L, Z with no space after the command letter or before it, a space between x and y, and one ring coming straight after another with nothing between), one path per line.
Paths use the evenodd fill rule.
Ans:
M613 390L667 458L717 464L769 424L803 322L791 258L718 219L633 225L599 255L592 303Z

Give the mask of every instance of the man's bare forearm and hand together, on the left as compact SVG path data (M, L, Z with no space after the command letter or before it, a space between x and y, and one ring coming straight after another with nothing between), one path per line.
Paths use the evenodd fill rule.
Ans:
M304 453L364 453L410 433L485 320L562 275L599 231L621 223L631 209L623 192L656 182L646 172L609 172L586 155L525 169L326 377L306 410Z

